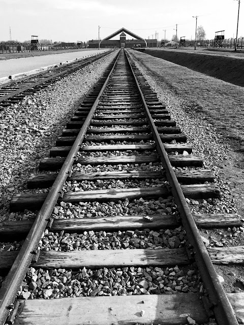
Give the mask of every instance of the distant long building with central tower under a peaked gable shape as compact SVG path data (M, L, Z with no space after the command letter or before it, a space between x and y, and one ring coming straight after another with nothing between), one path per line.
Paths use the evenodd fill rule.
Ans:
M126 39L126 34L133 37L132 40ZM111 38L117 36L119 33L119 40L111 40ZM99 41L98 40L90 40L89 48L98 48ZM140 36L137 36L132 31L126 28L120 28L115 31L113 34L109 35L105 39L100 41L100 48L134 48L134 47L156 47L157 39L143 39Z

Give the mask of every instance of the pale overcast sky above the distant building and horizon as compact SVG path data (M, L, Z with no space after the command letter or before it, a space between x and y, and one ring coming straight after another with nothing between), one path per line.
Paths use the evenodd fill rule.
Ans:
M236 36L237 0L0 0L0 41L39 39L77 42L105 38L121 27L136 35L171 39L195 38L196 19L207 39L225 29L225 38ZM244 1L240 3L238 37L244 36ZM131 38L131 37L129 37ZM117 37L118 39L118 37Z

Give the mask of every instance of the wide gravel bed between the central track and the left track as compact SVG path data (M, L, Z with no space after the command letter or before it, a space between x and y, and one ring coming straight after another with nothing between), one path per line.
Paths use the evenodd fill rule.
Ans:
M0 112L0 220L8 220L12 193L37 171L40 159L48 156L115 55L113 52Z

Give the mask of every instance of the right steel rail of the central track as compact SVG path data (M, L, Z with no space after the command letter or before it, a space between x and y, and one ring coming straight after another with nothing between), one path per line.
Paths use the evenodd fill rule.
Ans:
M189 241L194 248L195 261L198 265L198 269L203 279L204 286L207 289L207 292L209 294L210 302L212 303L212 309L214 310L216 319L220 325L238 325L238 321L235 317L234 310L229 302L229 299L227 298L227 295L223 289L222 284L219 281L216 270L212 265L207 249L202 241L202 238L200 236L194 218L186 202L185 196L180 188L174 170L170 164L168 155L160 139L154 120L150 115L149 109L144 99L143 92L137 81L136 75L133 71L128 56L129 54L126 51L126 57L128 59L133 76L135 78L138 91L141 94L142 103L144 106L148 123L151 128L151 133L153 134L160 155L160 159L165 168L167 180L170 184L171 191L173 193L174 200L177 205L177 209L180 213L182 224L184 225Z

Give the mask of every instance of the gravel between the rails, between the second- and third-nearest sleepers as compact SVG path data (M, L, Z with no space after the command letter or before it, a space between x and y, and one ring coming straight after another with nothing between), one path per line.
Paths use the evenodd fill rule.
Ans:
M64 231L60 233L53 233L45 230L39 243L39 249L44 251L73 251L137 248L180 248L185 247L185 235L186 233L182 226L171 230L117 230L113 233L105 231L84 231L81 234L69 234L64 233Z

